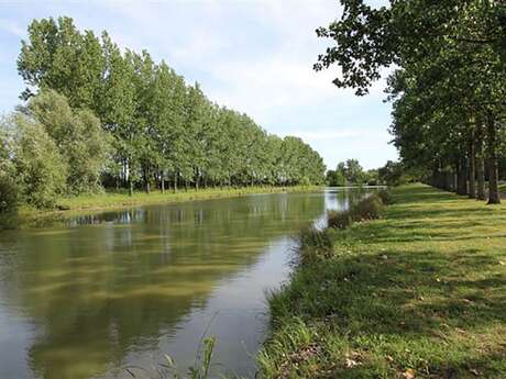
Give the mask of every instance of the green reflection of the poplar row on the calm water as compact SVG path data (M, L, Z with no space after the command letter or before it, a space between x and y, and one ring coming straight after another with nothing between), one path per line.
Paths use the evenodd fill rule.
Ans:
M253 265L270 241L323 210L321 194L256 196L22 232L7 301L38 332L31 367L43 378L79 379L119 366L133 346L155 349L161 331L205 306L220 279Z

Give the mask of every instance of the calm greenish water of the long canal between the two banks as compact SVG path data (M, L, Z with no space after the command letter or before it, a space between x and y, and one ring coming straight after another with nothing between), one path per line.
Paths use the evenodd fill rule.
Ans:
M185 371L206 331L215 374L254 377L265 291L287 278L292 236L360 196L144 207L1 233L0 378L130 378L125 367L164 354Z

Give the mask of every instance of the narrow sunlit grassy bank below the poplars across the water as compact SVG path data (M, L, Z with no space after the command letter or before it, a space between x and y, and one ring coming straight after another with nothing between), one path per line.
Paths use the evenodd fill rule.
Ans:
M178 192L152 191L134 192L129 196L124 192L105 192L98 194L81 194L73 198L62 198L57 201L59 210L38 210L22 205L18 216L10 222L13 227L38 226L51 222L58 222L78 214L94 213L105 210L119 210L129 207L155 205L167 203L180 203L186 201L233 198L261 193L282 193L282 192L311 192L319 191L319 186L294 186L294 187L243 187L243 188L209 188L189 189ZM0 226L1 230L1 226Z

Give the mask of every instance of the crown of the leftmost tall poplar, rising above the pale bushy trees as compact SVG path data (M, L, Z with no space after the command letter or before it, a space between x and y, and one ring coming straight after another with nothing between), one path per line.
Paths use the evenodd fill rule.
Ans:
M70 18L34 20L29 41L22 41L18 70L29 85L23 99L34 96L32 88L53 89L64 94L72 107L97 109L105 60L99 40L91 31L81 34Z

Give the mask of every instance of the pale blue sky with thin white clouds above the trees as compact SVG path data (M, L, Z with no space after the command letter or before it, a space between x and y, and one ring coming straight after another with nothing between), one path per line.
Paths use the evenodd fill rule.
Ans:
M0 113L20 103L15 59L28 24L68 15L80 30L106 30L122 48L165 59L209 99L267 132L304 138L328 168L349 158L380 167L397 158L385 80L359 98L332 85L337 67L312 70L331 44L315 30L340 12L337 0L0 0Z

